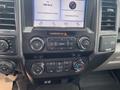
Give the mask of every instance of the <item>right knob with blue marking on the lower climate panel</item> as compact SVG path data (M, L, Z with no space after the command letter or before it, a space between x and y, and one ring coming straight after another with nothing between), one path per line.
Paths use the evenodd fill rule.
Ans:
M82 60L74 62L73 69L75 70L75 72L81 72L82 70L84 70L84 62Z

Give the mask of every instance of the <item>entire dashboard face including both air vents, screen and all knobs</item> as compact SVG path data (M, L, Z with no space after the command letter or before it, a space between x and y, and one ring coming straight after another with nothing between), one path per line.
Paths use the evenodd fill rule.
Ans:
M0 72L74 77L107 60L117 36L118 0L2 0Z

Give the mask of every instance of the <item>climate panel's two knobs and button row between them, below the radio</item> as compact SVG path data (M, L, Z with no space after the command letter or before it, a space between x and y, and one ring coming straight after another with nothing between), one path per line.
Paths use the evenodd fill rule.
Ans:
M56 62L38 62L32 64L31 72L33 75L40 76L44 73L61 73L70 72L79 73L85 68L84 62L76 61L56 61Z

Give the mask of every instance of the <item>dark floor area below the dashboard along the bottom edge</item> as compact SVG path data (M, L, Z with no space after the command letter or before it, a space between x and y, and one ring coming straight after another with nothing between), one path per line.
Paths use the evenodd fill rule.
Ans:
M113 71L88 73L81 77L80 86L81 90L120 90L120 82ZM28 87L28 90L33 90L33 88ZM79 88L69 83L38 86L34 90L79 90Z

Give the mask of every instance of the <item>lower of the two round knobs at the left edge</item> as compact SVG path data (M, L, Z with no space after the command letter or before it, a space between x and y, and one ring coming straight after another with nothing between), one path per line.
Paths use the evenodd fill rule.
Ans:
M16 64L13 61L0 61L0 72L9 75L15 71Z

